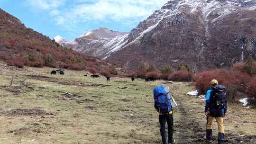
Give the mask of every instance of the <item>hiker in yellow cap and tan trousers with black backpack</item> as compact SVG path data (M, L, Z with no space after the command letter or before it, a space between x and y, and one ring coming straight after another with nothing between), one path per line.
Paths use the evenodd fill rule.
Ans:
M212 142L212 121L215 118L219 128L218 144L224 144L224 117L227 116L228 100L225 87L218 84L217 80L211 81L212 87L207 90L205 116L207 117L206 136L207 142Z

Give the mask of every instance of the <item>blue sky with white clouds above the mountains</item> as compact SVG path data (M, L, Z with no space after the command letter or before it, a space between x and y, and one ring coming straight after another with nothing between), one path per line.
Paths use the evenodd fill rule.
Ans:
M168 0L0 0L0 8L26 27L68 40L107 27L130 31Z

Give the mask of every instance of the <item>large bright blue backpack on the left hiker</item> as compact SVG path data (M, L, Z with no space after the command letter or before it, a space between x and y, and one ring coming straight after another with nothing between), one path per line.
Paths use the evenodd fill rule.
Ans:
M168 114L172 110L171 94L166 92L164 86L154 88L155 106L159 114Z

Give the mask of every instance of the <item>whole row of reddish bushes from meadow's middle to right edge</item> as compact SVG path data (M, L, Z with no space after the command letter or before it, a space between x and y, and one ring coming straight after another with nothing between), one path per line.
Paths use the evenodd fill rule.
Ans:
M141 62L136 72L137 78L154 78L165 81L194 82L195 88L205 94L210 89L210 81L216 79L226 87L229 102L235 102L245 95L256 99L256 61L251 56L243 63L236 63L229 69L212 69L195 73L187 63L180 63L177 69L170 64L158 69L154 63Z

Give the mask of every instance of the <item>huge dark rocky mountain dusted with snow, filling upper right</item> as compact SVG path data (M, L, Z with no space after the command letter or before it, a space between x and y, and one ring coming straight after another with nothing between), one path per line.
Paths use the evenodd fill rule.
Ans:
M90 35L69 43L124 67L135 69L142 60L159 66L185 61L196 71L228 67L249 54L256 58L256 0L169 0L129 34Z

